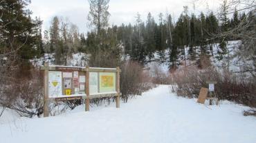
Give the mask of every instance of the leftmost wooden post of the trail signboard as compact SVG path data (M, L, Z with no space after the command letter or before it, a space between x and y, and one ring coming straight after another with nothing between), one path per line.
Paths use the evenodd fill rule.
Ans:
M48 110L48 63L44 63L44 117L49 116Z

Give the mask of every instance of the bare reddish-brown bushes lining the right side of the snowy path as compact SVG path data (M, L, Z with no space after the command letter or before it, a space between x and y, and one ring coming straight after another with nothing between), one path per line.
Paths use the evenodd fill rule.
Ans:
M214 94L219 100L230 100L239 104L256 107L256 89L253 78L244 78L242 75L228 71L218 71L214 67L199 70L196 67L187 67L172 74L172 80L178 86L178 96L194 98L199 95L201 87L208 88L206 81L214 80Z

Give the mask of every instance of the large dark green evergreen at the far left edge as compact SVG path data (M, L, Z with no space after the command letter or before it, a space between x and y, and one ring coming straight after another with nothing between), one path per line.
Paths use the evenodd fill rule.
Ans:
M29 60L43 52L42 21L30 18L31 12L26 9L28 3L26 0L0 1L0 55L5 54L0 58L6 57L8 61L12 61L11 65L8 65L9 68L18 66L21 71L29 69ZM17 74L21 74L19 70ZM26 73L27 75L29 74Z

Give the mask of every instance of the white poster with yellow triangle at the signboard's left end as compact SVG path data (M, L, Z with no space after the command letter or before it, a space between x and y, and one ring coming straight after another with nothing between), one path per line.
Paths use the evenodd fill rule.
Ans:
M48 97L62 96L62 72L48 72Z

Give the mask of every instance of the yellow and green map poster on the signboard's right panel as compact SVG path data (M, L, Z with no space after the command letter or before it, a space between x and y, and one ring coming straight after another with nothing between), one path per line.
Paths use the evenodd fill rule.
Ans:
M100 92L116 91L116 73L100 72Z

